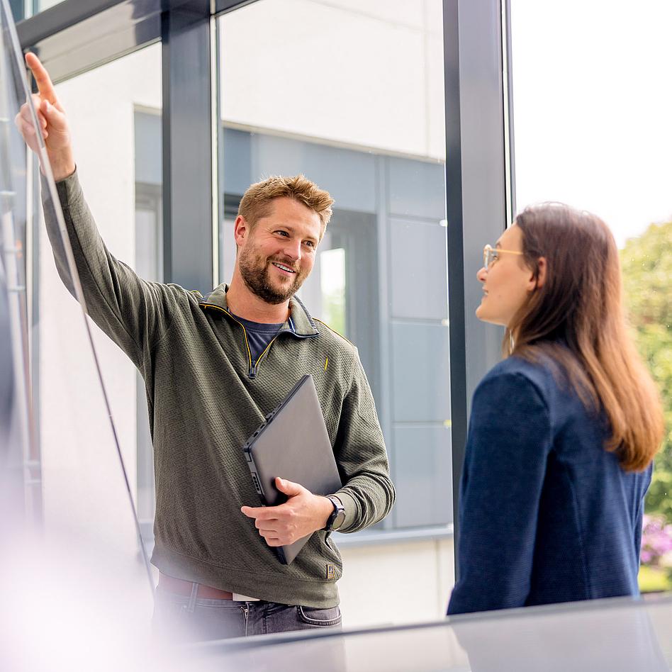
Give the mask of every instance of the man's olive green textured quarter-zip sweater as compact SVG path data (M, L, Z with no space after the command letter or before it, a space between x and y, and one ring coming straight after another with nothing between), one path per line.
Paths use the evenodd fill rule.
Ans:
M86 308L145 379L155 452L152 563L172 576L276 603L332 607L341 559L315 532L289 566L241 505L259 506L242 446L304 374L313 374L342 478L337 492L355 532L381 520L394 500L383 436L357 349L315 324L299 301L256 360L228 313L225 286L203 298L144 281L103 245L77 174L57 184ZM62 245L45 206L57 268Z

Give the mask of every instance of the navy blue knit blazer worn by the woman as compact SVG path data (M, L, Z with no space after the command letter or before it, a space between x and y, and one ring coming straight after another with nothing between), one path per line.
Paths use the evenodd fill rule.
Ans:
M471 409L449 614L638 594L651 467L623 471L609 435L548 362L510 357L488 373Z

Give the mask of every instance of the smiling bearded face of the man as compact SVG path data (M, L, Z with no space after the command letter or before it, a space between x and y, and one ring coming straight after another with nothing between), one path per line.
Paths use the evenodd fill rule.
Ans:
M313 270L322 224L318 213L293 198L275 198L271 208L253 228L243 218L236 221L237 263L247 288L277 304L293 296Z

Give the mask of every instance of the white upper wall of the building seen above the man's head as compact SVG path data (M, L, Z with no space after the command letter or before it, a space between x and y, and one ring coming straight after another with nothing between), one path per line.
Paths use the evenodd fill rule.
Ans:
M259 0L220 26L225 121L444 159L439 0Z

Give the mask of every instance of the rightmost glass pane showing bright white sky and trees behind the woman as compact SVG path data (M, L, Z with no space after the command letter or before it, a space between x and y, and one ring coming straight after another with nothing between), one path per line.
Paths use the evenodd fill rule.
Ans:
M672 89L663 82L672 5L646 0L633 13L607 0L516 0L511 19L517 208L564 201L600 215L615 235L635 339L667 422L644 549L670 547ZM662 555L643 551L642 589L672 589Z

